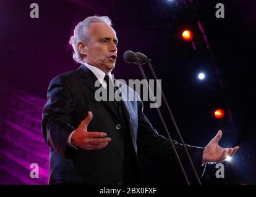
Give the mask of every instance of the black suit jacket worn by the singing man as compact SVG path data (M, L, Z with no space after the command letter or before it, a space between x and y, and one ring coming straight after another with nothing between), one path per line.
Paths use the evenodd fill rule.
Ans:
M45 142L50 147L50 184L85 183L117 184L122 181L123 137L117 130L120 119L108 102L95 100L96 76L86 66L56 76L49 84L47 103L43 108L42 131ZM169 169L178 169L174 151L168 139L153 129L143 114L143 103L130 87L122 84L121 92L134 94L136 101L123 102L126 118L134 145L134 153L142 154L156 164ZM67 139L87 112L92 111L93 119L88 131L106 132L112 141L100 150L83 150L70 147ZM183 161L186 154L181 144L174 142ZM203 149L187 146L189 153L202 174Z

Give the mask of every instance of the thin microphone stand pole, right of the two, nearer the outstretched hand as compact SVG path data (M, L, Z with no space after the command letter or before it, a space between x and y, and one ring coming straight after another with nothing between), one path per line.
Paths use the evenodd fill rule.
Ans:
M153 74L153 78L155 79L157 86L160 86L160 85L158 84L155 71L153 70L153 67L152 67L152 65L151 65L151 60L150 60L150 58L145 59L145 61L148 63L148 66L150 67L150 71L151 71L151 73ZM138 65L139 65L139 67L140 67L140 71L143 72L142 66L140 65L139 61L137 61L137 63L138 63ZM143 72L143 73L144 73L144 72ZM145 76L145 74L143 74L143 77L144 77L144 76ZM160 87L160 89L161 89L161 87ZM175 127L175 129L176 129L176 132L177 132L177 134L179 135L179 138L181 139L182 145L184 146L184 149L185 149L186 154L187 154L187 158L189 158L189 163L190 163L190 165L191 165L191 167L192 167L192 170L193 170L193 172L194 172L194 174L195 174L195 177L196 177L196 179L197 179L197 182L198 182L199 185L202 185L202 183L201 183L201 181L200 181L200 179L199 179L199 177L198 177L197 171L195 170L195 166L194 166L194 164L193 164L193 162L192 162L192 159L190 158L189 151L187 151L186 144L184 143L184 140L183 140L183 138L182 138L182 136L181 136L181 132L179 131L179 128L177 127L177 124L176 124L176 121L175 121L175 119L174 119L173 113L171 112L171 109L170 109L170 107L169 107L169 105L168 105L168 102L167 102L167 100L166 100L166 98L165 98L165 96L164 96L164 94L163 94L163 90L162 90L162 89L161 89L161 95L162 95L162 97L163 97L164 104L166 105L166 107L167 107L167 109L168 109L169 116L171 116L171 120L173 121L173 124L174 124L174 127ZM158 108L157 108L157 109L158 109ZM159 111L159 109L158 109L158 111ZM168 135L169 135L169 133L168 133Z

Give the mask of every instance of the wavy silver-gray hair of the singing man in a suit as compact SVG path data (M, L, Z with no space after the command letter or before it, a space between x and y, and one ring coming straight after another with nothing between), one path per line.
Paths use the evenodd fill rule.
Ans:
M112 26L111 20L109 17L103 16L103 17L98 17L98 16L92 16L92 17L87 17L85 20L82 22L79 22L77 26L75 26L74 29L74 35L70 37L69 43L73 47L73 59L75 62L78 63L83 63L83 56L80 54L79 50L77 49L77 43L78 42L85 42L88 43L90 38L88 35L88 26L90 23L106 23L109 26Z

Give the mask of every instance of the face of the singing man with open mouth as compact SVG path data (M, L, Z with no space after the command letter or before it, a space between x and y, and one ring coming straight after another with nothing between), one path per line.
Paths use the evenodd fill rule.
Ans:
M89 42L85 46L85 63L96 66L105 73L113 70L117 57L117 38L114 29L106 23L91 23Z

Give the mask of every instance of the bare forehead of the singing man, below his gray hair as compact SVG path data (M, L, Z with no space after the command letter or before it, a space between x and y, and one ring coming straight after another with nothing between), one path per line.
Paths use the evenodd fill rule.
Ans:
M116 38L116 31L114 31L114 29L106 23L100 23L100 22L91 23L88 26L88 30L90 32L90 37L91 38L96 37L96 38L117 39Z

